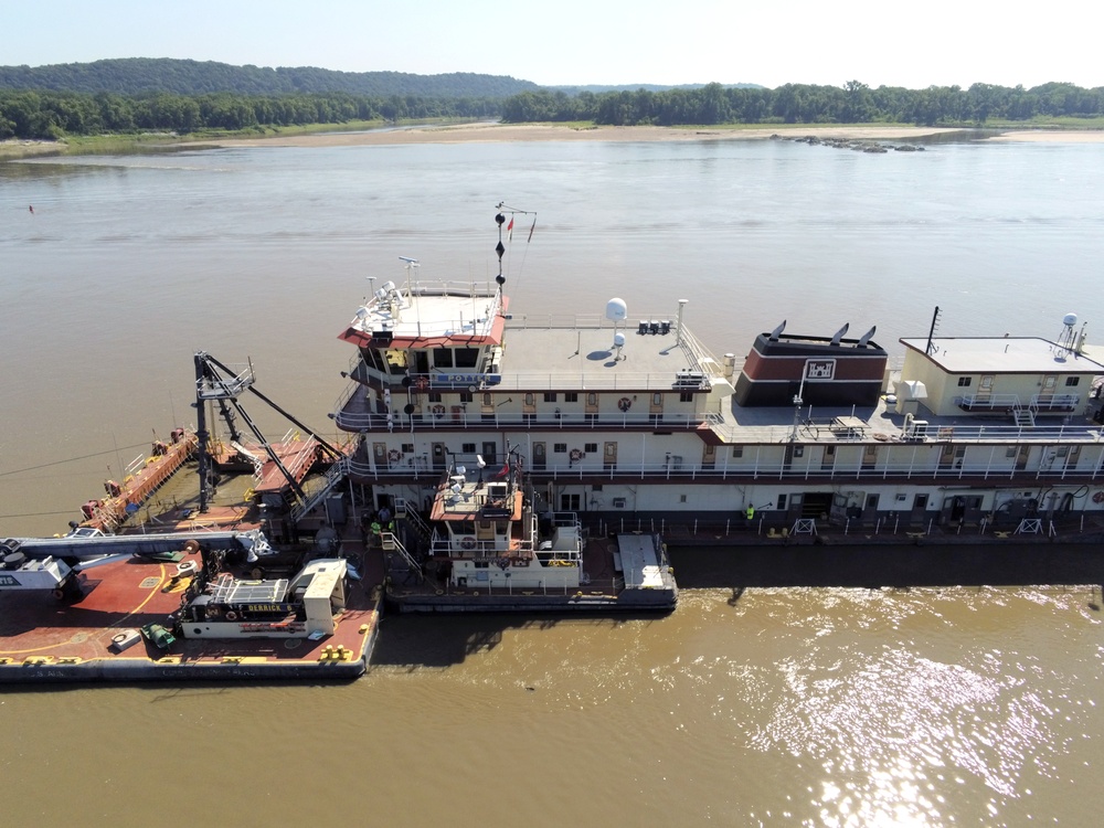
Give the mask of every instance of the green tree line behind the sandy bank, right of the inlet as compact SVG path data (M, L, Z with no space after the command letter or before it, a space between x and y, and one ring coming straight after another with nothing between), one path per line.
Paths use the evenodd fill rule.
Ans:
M991 84L930 86L926 89L879 86L858 81L843 86L786 84L775 89L726 87L661 92L527 91L502 104L510 123L594 121L604 126L719 124L867 124L922 126L985 125L992 120L1092 118L1104 115L1104 87L1084 89L1048 83L1025 89Z

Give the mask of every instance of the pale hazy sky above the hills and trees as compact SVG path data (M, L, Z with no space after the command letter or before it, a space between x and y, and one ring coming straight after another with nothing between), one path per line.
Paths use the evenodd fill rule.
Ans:
M0 0L0 65L190 57L542 85L1104 86L1094 2Z

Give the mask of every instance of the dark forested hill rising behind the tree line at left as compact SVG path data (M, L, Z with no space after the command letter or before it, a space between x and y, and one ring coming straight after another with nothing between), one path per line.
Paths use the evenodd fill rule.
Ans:
M505 98L540 88L529 81L456 72L410 75L403 72L335 72L312 66L266 68L171 57L126 57L52 66L0 66L0 89L51 89L138 95L350 95Z

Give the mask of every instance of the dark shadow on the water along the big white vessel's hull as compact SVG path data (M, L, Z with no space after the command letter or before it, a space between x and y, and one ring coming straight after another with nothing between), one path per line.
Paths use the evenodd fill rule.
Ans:
M672 548L670 556L683 590L1104 583L1097 543L742 545Z

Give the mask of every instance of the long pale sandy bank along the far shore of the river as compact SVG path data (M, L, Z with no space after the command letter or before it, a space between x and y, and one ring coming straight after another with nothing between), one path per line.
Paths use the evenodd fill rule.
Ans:
M426 126L408 129L371 130L364 132L322 132L315 135L274 136L270 138L233 138L210 141L220 147L352 147L402 144L470 144L484 141L701 141L762 140L773 135L799 138L815 135L821 139L909 141L942 132L962 131L944 127L831 127L768 126L752 129L682 129L671 127L593 127L578 129L546 124L463 124ZM1094 141L1104 142L1104 131L1017 130L996 136L992 140L1025 141Z

